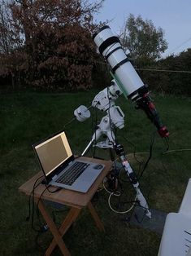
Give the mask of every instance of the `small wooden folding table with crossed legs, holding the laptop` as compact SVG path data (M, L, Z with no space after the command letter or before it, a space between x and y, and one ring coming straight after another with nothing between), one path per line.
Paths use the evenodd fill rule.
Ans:
M111 170L112 163L111 161L102 161L88 157L80 157L80 159L105 165L105 168L102 170L101 174L99 174L98 179L95 180L91 188L89 188L88 192L74 192L64 188L59 190L59 192L55 193L48 192L47 190L43 192L46 188L43 184L40 184L34 191L34 198L35 201L38 202L37 205L39 210L41 211L41 215L46 220L46 223L50 228L50 232L52 232L52 235L54 236L54 239L51 241L49 248L46 250L46 255L50 255L53 252L56 245L59 245L59 249L61 250L64 256L71 255L69 250L67 249L67 246L63 242L62 237L67 232L68 228L71 227L72 223L76 220L77 216L80 214L80 211L83 207L88 207L98 229L101 232L104 231L104 226L91 203L91 199L94 193L98 190L99 184L102 183L102 180L106 177L106 174ZM41 177L41 175L42 172L36 174L32 179L29 179L26 183L24 183L19 188L20 192L24 192L26 195L29 196L33 191L33 184L39 177ZM41 195L42 192L43 194ZM68 205L71 207L59 229L56 227L52 218L50 218L50 215L46 210L46 206L44 205L43 200L52 201L59 204Z

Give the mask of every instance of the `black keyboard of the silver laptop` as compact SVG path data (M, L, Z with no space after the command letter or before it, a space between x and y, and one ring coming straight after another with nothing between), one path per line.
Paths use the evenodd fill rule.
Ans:
M71 186L72 183L84 172L84 170L89 166L87 163L81 161L76 161L73 166L67 169L60 177L56 180L57 183L62 183L64 185Z

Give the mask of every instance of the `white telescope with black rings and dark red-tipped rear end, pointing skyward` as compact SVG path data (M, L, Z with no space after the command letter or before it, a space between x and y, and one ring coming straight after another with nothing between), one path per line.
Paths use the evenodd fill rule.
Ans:
M164 138L169 132L158 115L153 100L150 98L148 86L142 82L141 77L133 68L128 56L124 53L119 38L112 33L108 25L98 29L93 34L93 40L98 46L98 51L111 66L111 75L123 92L125 98L136 103L136 108L145 111L150 121L157 127L158 134Z

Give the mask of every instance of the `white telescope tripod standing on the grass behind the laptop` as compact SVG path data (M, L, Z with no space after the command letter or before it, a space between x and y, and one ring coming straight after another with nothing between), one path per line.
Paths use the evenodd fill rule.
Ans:
M96 143L97 140L100 138L101 135L106 135L106 141ZM98 125L98 129L94 132L92 139L90 140L89 144L85 148L84 152L82 152L81 156L85 156L85 154L89 151L89 148L96 143L96 146L99 148L113 148L115 153L119 156L122 166L126 174L128 175L128 179L132 184L132 187L135 189L137 193L137 201L139 205L145 210L145 214L147 217L151 218L151 213L147 201L145 200L145 196L143 196L141 192L141 188L139 187L139 182L137 179L137 175L132 170L127 157L125 156L124 147L117 143L115 139L115 134L113 132L113 124L111 122L111 118L109 115L102 117L102 121Z

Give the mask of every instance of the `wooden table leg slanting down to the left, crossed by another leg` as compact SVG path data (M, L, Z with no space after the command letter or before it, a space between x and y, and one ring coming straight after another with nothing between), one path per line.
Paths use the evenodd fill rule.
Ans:
M77 216L80 214L80 208L74 208L72 207L69 213L67 214L66 218L64 219L62 225L59 227L59 233L61 236L63 236L69 227L71 227L72 223L76 220ZM57 242L55 240L55 237L53 241L51 241L49 248L46 250L46 256L50 255L54 248L56 247Z

